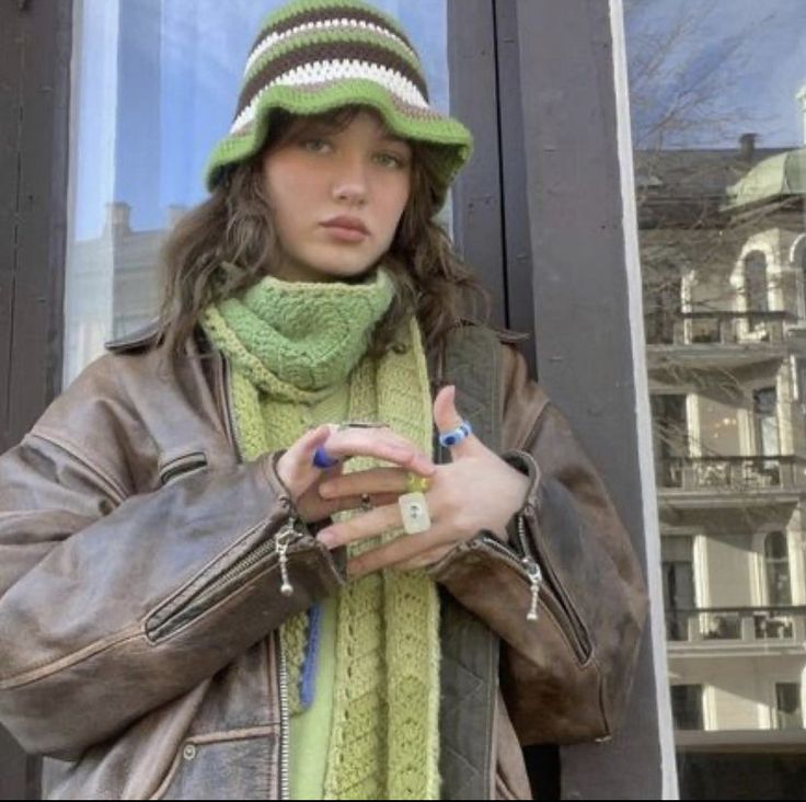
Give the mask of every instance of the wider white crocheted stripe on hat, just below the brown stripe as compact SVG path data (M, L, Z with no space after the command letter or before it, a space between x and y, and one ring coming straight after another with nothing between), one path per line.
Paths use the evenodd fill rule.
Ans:
M260 100L272 87L304 87L307 84L326 83L345 78L369 79L381 84L404 103L410 103L421 108L429 107L419 90L407 78L383 65L359 60L313 61L312 64L295 67L292 70L277 76L270 83L263 87L232 123L230 134L237 134L254 122Z

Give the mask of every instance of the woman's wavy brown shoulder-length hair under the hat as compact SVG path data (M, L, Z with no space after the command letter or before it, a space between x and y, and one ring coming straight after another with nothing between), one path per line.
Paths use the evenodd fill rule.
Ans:
M278 263L281 249L262 173L266 151L304 133L314 121L341 130L361 110L344 106L316 117L275 111L262 151L231 167L209 198L176 224L160 259L163 302L159 325L169 353L182 352L205 307L243 294ZM436 220L434 146L410 144L411 193L392 244L380 260L396 293L372 332L369 352L373 355L395 345L401 323L412 313L417 316L427 347L438 344L461 314L479 317L477 306L481 318L490 318L488 290L464 265Z

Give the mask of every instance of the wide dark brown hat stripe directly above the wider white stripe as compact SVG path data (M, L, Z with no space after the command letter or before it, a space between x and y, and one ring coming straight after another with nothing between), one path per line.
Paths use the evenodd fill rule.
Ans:
M257 93L272 81L296 67L303 67L313 61L346 61L359 60L370 65L382 65L404 78L408 79L419 91L426 102L428 88L423 77L412 68L405 59L396 53L381 46L367 42L322 42L301 44L298 48L289 50L277 58L269 59L250 81L246 82L238 99L238 108L234 119L241 115L246 106L253 101Z

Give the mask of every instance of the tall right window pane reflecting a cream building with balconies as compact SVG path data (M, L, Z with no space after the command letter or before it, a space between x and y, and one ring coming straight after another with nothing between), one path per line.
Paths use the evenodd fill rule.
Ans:
M624 14L681 797L802 798L806 3Z

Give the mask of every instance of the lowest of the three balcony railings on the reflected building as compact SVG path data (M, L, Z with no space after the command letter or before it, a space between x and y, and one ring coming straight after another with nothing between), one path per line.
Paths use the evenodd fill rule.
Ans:
M666 610L669 641L803 643L806 606L707 607Z

